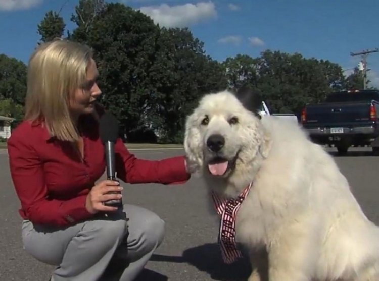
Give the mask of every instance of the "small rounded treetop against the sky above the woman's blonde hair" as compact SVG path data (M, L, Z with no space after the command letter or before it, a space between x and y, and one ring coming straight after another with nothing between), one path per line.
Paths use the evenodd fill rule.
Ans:
M42 42L49 42L54 38L62 38L66 24L63 18L57 12L49 11L38 24L38 34Z

